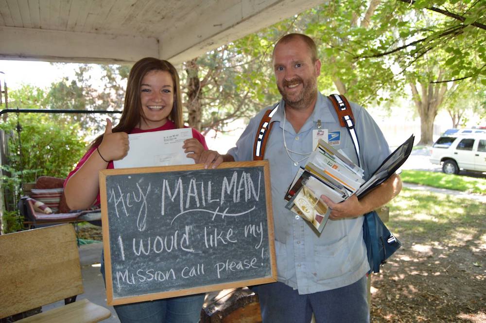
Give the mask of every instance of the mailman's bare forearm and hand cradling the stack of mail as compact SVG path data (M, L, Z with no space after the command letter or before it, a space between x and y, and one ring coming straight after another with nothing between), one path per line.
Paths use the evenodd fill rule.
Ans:
M356 195L350 196L346 201L341 203L333 203L325 195L321 195L321 200L331 208L329 215L331 220L354 218L387 204L398 195L400 190L400 176L393 174L378 187L366 194L361 200L358 200Z

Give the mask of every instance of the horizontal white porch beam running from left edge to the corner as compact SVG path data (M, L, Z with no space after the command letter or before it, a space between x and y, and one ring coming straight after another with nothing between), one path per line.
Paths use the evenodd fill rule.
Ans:
M158 57L156 38L0 27L0 59L132 64Z

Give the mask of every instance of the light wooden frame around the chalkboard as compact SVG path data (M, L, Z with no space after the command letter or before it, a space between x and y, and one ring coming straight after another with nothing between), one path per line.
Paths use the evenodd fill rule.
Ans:
M265 189L265 202L266 202L266 216L267 216L267 228L268 228L268 246L270 255L270 268L271 275L264 276L256 279L239 280L229 283L206 285L188 289L162 291L157 293L141 294L137 296L128 297L113 297L113 280L112 280L112 264L110 253L110 240L109 240L109 219L108 219L108 207L107 207L107 193L106 193L106 177L110 175L128 175L128 174L140 174L140 173L160 173L168 171L184 171L184 170L204 170L203 164L196 165L181 165L181 166L163 166L163 167L141 167L141 168L124 168L124 169L111 169L100 170L100 196L101 196L101 213L103 222L103 248L104 248L104 266L105 266L105 284L106 284L106 296L108 305L120 305L128 303L136 303L143 301L152 301L157 299L164 299L177 296L185 296L191 294L205 293L209 291L216 291L221 289L238 288L259 284L272 283L277 281L277 264L275 256L275 235L274 235L274 223L272 213L272 196L270 185L270 170L268 161L247 161L247 162L226 162L218 166L218 169L231 169L231 168L256 168L263 167L264 175L264 189Z

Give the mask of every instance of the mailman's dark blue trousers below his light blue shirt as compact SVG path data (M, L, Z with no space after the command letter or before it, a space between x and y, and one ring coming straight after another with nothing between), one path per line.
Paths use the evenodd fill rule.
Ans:
M351 285L299 295L284 283L253 288L260 299L263 323L369 323L366 277Z

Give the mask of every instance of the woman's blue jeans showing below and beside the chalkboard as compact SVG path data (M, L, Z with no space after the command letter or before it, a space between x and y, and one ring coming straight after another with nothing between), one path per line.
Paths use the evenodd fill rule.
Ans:
M103 253L101 273L105 280ZM204 295L181 296L113 307L121 323L197 323L201 315Z

